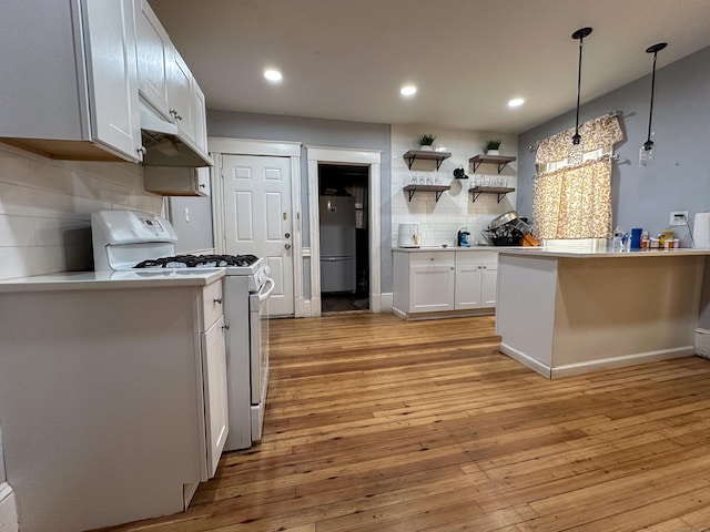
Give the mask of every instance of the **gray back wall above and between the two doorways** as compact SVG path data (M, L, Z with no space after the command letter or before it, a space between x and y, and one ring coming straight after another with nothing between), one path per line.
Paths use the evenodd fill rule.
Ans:
M306 145L378 150L382 152L379 195L382 197L381 246L382 291L392 291L390 242L390 153L389 125L337 120L306 119L271 114L234 113L207 110L207 135L230 139L301 142ZM310 245L308 235L308 173L305 147L301 154L301 205L303 212L303 245ZM386 253L385 253L386 252ZM307 276L307 268L305 275ZM310 279L304 279L306 289Z

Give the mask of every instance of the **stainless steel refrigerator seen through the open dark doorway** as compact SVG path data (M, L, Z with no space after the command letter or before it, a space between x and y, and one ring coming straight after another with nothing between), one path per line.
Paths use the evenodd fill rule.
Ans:
M321 291L355 291L355 198L321 196Z

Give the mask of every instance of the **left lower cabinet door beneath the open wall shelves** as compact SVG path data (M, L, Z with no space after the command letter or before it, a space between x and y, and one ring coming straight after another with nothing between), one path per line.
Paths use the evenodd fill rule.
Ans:
M409 311L454 310L454 266L409 267Z

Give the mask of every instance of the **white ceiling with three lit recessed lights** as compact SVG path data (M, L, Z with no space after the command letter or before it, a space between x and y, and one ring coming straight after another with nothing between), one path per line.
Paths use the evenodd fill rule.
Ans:
M708 0L150 0L207 108L521 133L710 45ZM267 66L284 74L263 79ZM399 95L404 83L419 91ZM650 90L650 88L649 88ZM524 106L506 106L514 96Z

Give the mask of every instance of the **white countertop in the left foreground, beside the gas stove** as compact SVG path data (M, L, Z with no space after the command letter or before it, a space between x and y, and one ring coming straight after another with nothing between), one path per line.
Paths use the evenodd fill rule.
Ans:
M221 277L224 268L64 272L0 280L0 293L205 286Z

